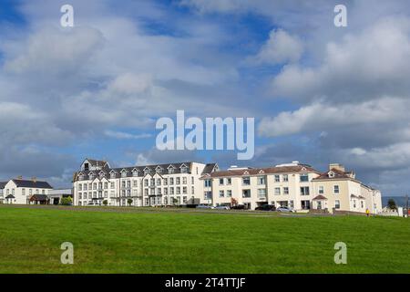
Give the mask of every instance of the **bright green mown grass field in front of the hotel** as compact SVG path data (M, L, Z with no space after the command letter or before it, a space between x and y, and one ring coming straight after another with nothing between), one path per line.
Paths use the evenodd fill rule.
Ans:
M410 273L403 218L116 210L0 206L0 273Z

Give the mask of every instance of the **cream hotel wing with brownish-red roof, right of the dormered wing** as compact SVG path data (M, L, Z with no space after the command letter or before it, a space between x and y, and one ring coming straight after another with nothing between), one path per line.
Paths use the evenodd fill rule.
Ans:
M330 164L327 172L299 162L269 168L231 167L206 173L201 180L204 198L215 206L243 204L255 209L269 203L328 213L382 210L380 191L356 180L354 172L345 172L338 163Z

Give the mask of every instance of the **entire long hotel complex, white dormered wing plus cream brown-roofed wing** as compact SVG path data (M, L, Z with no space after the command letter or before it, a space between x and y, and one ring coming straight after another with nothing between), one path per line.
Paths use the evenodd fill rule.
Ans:
M75 205L112 206L263 204L296 211L321 210L372 214L382 210L381 193L356 180L354 172L333 163L326 172L299 162L268 168L231 167L216 163L178 162L110 168L87 159L74 174Z

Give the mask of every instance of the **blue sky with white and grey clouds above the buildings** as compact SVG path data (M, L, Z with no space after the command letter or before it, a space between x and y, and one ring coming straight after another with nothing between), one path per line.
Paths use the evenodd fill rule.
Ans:
M75 27L59 26L64 4ZM341 162L410 189L406 1L0 0L0 178L70 184L85 157ZM253 117L255 156L157 151L159 117ZM400 182L400 183L397 183Z

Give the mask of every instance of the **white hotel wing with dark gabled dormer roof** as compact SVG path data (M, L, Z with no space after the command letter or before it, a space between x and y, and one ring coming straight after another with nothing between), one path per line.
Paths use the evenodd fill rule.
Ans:
M200 177L217 170L216 163L200 162L110 168L108 162L86 159L80 171L74 174L74 204L84 206L104 201L113 206L199 203L200 193L204 192ZM192 201L193 198L197 200Z

